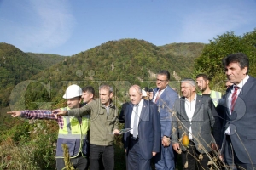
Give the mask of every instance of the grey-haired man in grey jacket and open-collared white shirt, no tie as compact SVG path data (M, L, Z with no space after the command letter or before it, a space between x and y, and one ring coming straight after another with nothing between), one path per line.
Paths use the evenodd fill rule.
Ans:
M172 117L172 147L177 153L181 152L183 169L208 169L215 107L209 96L195 93L193 79L181 81L181 92L183 97L175 101ZM189 147L179 143L185 135L189 137Z

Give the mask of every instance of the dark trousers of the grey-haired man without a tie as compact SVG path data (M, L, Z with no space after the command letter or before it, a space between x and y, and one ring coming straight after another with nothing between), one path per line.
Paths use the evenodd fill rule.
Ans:
M203 158L200 162L197 161L200 154L201 153L196 150L194 142L189 141L189 148L187 148L187 151L182 152L183 169L186 169L186 170L209 169L209 167L207 166L207 163L210 160L206 154L202 154ZM188 161L187 168L184 167L186 161Z

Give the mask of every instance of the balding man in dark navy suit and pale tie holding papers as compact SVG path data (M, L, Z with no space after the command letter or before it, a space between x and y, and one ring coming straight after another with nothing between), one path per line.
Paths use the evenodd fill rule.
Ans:
M157 106L143 99L142 89L133 85L129 89L131 103L125 108L124 148L127 169L151 169L150 160L160 151L160 116Z

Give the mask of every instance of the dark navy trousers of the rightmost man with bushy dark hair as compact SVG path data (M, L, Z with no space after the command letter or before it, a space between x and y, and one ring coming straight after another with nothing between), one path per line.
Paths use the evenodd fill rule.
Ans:
M226 135L226 142L224 144L224 162L229 169L236 170L236 169L249 169L253 170L253 167L256 168L255 164L246 164L241 162L237 156L236 152L233 149L233 145L230 140L230 136Z

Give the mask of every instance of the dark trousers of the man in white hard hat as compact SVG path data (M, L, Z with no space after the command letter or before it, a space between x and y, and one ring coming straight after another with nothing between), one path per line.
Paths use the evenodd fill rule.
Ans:
M78 157L71 158L70 162L73 163L73 167L78 170L87 170L88 169L88 158L79 155ZM64 158L56 158L56 167L57 170L61 170L65 167Z

